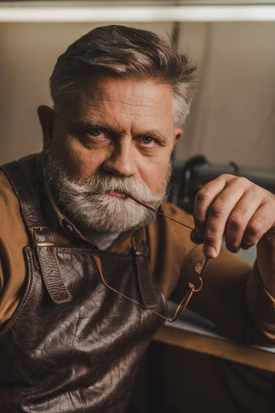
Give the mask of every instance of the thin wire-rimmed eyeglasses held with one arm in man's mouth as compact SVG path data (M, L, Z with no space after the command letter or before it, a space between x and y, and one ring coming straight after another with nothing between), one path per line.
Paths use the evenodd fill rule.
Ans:
M188 229L193 229L191 226L188 226L188 225L186 225L186 224L183 224L182 222L179 222L179 221L175 220L174 218L170 218L170 217L168 217L167 215L164 215L164 213L162 213L162 212L160 212L160 211L157 211L157 209L154 209L154 208L152 208L152 207L144 204L143 202L140 202L139 200L137 200L136 198L134 198L132 195L129 195L129 198L132 198L135 202L137 202L138 204L141 204L142 207L146 207L146 208L148 208L148 209L151 209L151 211L154 211L154 212L156 212L156 213L159 213L160 215L163 215L165 218L168 218L168 220L172 220L172 221L174 221L174 222L177 222L177 224L180 224L180 225L182 225L182 226L186 226ZM187 293L184 295L184 298L181 300L179 306L177 307L177 310L175 311L175 315L174 315L172 318L167 318L167 317L164 317L164 315L157 313L157 311L153 310L152 308L148 308L147 306L144 306L144 304L140 303L139 301L136 301L135 299L133 299L133 298L131 298L131 297L128 297L128 296L120 293L120 291L118 291L118 290L116 290L115 288L113 288L112 286L110 286L110 285L106 282L106 280L105 280L105 278L104 278L104 275L103 275L103 273L102 273L102 267L101 267L101 263L100 263L99 257L97 257L96 255L94 255L94 260L95 260L95 262L96 262L96 266L98 267L98 271L99 271L99 274L100 274L101 281L102 281L102 283L104 284L105 287L109 288L109 290L112 290L114 293L117 293L118 295L121 295L122 297L124 297L124 298L126 298L126 299L129 299L130 301L132 301L133 303L141 306L142 308L145 308L146 310L151 311L151 313L154 313L155 315L158 315L159 317L162 317L162 319L164 319L164 320L166 320L166 321L169 321L169 323L173 323L173 321L175 321L176 319L178 319L178 318L180 317L180 315L181 315L181 314L184 312L184 310L186 309L186 306L188 305L188 302L190 301L193 293L198 293L198 292L201 290L201 288L202 288L202 286L203 286L203 280L202 280L201 277L202 277L203 272L205 271L206 266L207 266L207 264L208 264L208 262L209 262L209 258L206 257L206 256L204 256L203 261L201 262L201 264L199 263L199 264L197 264L197 265L195 266L195 271L196 271L197 273L199 273L199 277L198 277L198 278L199 278L199 283L200 283L199 287L198 287L198 288L195 288L195 285L192 284L191 282L189 282L189 283L188 283L188 291L187 291Z

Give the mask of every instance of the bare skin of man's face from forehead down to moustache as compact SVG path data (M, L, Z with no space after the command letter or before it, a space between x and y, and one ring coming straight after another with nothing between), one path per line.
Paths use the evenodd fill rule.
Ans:
M102 78L54 130L52 149L69 176L83 181L104 170L134 177L157 192L175 143L173 92L154 81Z

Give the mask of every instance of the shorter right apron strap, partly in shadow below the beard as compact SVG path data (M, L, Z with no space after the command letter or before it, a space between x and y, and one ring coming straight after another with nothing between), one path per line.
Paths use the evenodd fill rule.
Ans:
M153 279L150 271L148 244L143 238L143 231L139 229L132 237L133 253L137 272L137 283L140 290L142 304L148 308L159 306L159 286Z

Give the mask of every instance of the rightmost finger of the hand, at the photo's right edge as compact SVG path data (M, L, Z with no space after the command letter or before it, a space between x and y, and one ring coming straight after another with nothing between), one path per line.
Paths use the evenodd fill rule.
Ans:
M258 244L261 237L271 228L274 220L274 207L270 202L265 202L259 207L243 234L243 239L241 240L241 248L248 249L253 245Z

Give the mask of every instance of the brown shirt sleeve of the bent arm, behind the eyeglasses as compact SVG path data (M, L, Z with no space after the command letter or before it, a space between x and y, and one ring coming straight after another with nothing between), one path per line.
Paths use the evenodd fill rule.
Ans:
M202 256L201 246L187 255L173 301L182 299L188 282L199 285L195 265ZM275 343L275 299L265 289L256 262L252 267L224 248L210 260L203 273L203 287L193 294L188 307L235 339Z

